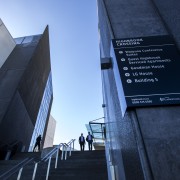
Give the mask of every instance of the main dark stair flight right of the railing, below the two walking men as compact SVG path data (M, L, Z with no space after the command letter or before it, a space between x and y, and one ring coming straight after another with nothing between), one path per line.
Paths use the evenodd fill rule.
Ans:
M60 161L50 171L50 180L107 180L104 151L75 151L66 161Z

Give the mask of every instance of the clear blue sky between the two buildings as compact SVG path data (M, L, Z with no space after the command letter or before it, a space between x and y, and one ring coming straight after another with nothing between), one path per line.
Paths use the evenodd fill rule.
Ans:
M0 0L0 18L14 38L49 25L54 143L86 135L85 124L103 117L96 0Z

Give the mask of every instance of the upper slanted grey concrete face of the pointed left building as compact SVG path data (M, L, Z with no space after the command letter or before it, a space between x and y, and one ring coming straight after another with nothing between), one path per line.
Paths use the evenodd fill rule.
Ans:
M16 46L0 69L0 122L4 118L35 46Z

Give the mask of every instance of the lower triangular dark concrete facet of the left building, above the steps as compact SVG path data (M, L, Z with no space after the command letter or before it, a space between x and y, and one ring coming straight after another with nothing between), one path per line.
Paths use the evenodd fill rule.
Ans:
M19 141L28 149L34 126L18 92L15 93L0 124L0 140L7 144Z

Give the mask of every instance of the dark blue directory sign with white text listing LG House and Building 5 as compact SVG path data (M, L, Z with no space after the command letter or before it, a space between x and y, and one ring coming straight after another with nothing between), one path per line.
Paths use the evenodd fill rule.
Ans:
M114 39L111 50L124 108L180 104L180 55L170 36Z

